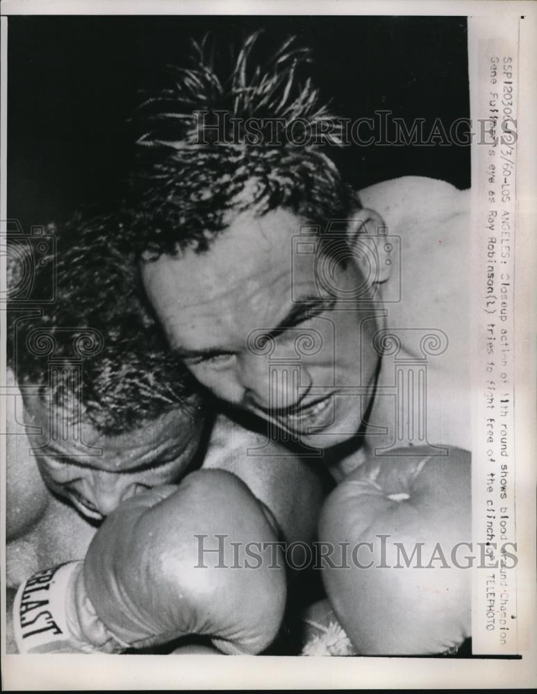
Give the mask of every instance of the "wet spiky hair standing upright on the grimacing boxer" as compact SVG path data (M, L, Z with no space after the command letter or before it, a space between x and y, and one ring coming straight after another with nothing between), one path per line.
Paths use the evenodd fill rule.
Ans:
M300 77L310 52L290 37L263 60L259 39L249 35L231 66L210 35L193 41L190 65L170 67L165 87L144 95L133 119L142 134L126 229L138 254L206 251L244 210L284 208L324 229L358 206L327 153L340 142L338 120L311 78ZM261 132L254 142L249 119ZM276 119L286 127L274 141ZM331 147L313 136L323 123ZM303 145L301 129L311 135Z

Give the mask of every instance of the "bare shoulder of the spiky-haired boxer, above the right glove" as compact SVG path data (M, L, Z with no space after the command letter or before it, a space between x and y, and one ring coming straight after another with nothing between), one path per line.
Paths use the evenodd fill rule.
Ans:
M410 357L424 357L424 334L443 345L427 357L428 440L470 450L470 190L408 176L371 186L360 197L379 212L388 234L399 237L399 271L386 281L399 283L390 293L398 300L385 305L386 327ZM379 385L393 383L394 368L393 357L383 357ZM372 421L392 420L388 399L376 398Z

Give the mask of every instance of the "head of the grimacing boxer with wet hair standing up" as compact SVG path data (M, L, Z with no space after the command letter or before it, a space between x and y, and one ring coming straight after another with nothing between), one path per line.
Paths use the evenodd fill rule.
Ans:
M286 42L259 65L256 38L229 74L202 46L192 74L142 107L129 239L170 346L197 380L328 448L356 437L374 392L374 301L389 265L369 237L382 221L329 156L336 120L299 81L304 51Z

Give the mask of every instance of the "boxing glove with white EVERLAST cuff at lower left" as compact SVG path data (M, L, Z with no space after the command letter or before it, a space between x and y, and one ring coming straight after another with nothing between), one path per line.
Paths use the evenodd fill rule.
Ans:
M121 652L187 634L258 653L278 632L286 575L274 518L231 473L201 470L123 502L83 562L19 589L21 652Z

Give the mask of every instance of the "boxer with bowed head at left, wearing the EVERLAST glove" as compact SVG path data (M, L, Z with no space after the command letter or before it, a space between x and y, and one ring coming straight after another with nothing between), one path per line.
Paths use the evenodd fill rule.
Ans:
M277 446L247 455L265 439L201 396L144 305L133 257L115 248L117 216L49 232L56 252L36 266L33 296L47 296L53 266L55 299L8 314L12 649L206 636L219 652L264 650L283 618L284 562L222 571L209 554L192 571L188 560L197 534L228 539L226 559L231 541L310 542L318 475Z

